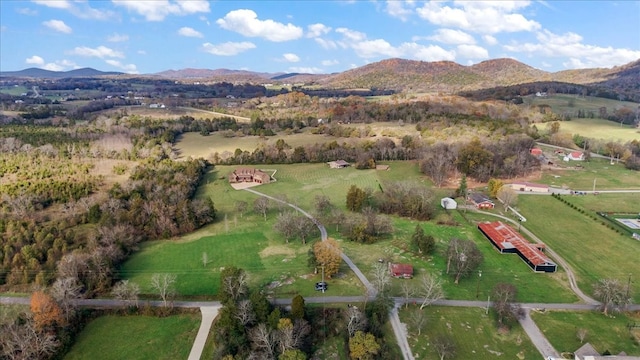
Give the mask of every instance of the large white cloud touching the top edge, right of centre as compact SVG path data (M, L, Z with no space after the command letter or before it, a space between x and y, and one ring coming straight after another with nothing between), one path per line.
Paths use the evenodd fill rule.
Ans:
M540 29L538 22L516 13L529 4L529 1L460 1L451 7L444 2L428 2L416 11L435 25L496 34Z

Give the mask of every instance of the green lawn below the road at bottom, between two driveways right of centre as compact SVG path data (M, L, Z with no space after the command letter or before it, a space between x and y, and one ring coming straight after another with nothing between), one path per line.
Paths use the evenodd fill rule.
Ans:
M400 311L400 320L407 324L408 340L416 359L439 359L431 345L439 335L453 339L455 359L539 359L540 353L516 322L510 331L497 330L495 315L482 308L427 307L426 325L421 335L411 325L417 307Z

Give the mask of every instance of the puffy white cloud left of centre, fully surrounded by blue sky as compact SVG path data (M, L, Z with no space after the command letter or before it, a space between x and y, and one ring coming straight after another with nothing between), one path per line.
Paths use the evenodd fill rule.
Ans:
M248 37L261 37L269 41L281 42L302 37L302 28L291 23L282 24L271 19L260 20L253 10L240 9L227 13L216 21L221 28Z

